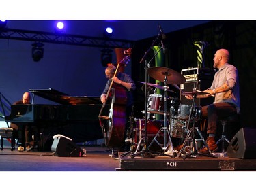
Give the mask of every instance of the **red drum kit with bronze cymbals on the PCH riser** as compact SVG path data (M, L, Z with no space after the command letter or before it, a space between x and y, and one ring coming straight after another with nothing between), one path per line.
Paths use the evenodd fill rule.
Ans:
M143 142L147 144L147 141L150 143L148 145L149 149L153 148L153 146L159 146L158 149L154 147L154 150L164 152L164 155L167 156L175 156L175 154L177 156L177 153L173 150L171 138L186 140L190 121L195 123L201 120L201 107L182 105L177 98L167 97L167 92L174 92L168 89L167 84L171 84L180 90L177 84L186 82L186 78L177 71L166 67L150 67L147 69L147 73L155 80L164 82L164 86L147 83L148 86L164 90L164 94L148 94L147 111L145 112L147 114L161 114L163 115L163 120L151 120L150 117L147 117L148 119L135 119L136 127L132 130L134 132L132 133L134 135L132 137L132 145L134 145L133 148L136 147L136 150L131 155L131 158L137 156L137 152L143 149ZM145 82L139 83L145 84ZM195 92L182 92L182 95L193 95L193 93ZM201 92L200 94L205 93ZM190 116L193 117L190 118ZM166 152L167 150L169 152Z

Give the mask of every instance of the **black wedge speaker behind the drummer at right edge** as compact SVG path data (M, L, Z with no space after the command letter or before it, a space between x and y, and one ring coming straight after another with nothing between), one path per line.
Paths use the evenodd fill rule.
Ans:
M241 128L227 147L230 158L256 158L256 128Z

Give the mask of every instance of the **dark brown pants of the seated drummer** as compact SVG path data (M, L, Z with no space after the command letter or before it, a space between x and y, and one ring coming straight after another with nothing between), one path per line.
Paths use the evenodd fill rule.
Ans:
M203 106L201 112L208 120L207 134L216 134L218 120L236 114L236 107L231 103L213 103Z

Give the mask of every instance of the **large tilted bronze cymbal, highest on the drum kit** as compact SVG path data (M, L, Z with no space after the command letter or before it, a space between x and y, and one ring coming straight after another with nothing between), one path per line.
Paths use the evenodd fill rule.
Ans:
M166 67L150 67L147 69L148 75L160 82L165 82L165 76L167 77L167 84L184 84L186 78L173 69Z

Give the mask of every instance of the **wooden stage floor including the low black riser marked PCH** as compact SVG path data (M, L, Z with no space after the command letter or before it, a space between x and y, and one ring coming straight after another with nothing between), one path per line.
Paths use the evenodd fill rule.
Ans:
M86 157L58 157L53 152L18 152L10 150L5 141L0 151L0 171L256 171L256 159L201 156L166 156L163 154L134 155L102 146L80 146L87 150ZM150 155L148 155L148 153Z

